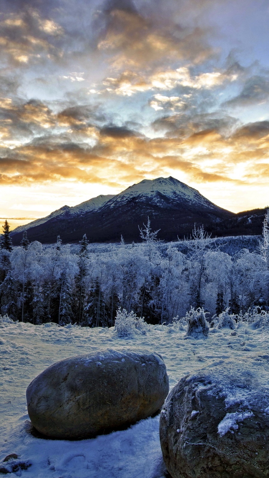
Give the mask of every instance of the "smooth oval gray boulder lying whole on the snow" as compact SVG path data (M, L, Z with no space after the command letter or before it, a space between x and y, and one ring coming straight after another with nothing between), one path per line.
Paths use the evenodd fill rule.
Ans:
M156 413L169 391L165 363L148 350L102 350L45 369L28 386L29 417L43 435L80 439Z

